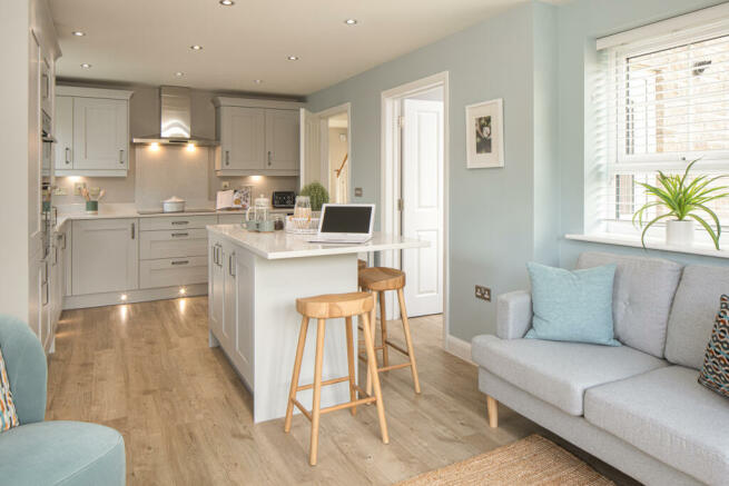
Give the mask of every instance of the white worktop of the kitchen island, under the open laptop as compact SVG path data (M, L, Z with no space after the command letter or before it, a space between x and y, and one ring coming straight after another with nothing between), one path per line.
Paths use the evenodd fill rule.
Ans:
M425 248L430 245L427 241L382 232L374 232L372 239L362 245L323 245L308 242L307 239L313 235L248 231L240 225L215 225L208 226L207 229L268 260Z

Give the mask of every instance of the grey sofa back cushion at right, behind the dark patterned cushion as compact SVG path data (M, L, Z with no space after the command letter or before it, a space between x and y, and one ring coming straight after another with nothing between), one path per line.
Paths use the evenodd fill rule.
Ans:
M683 269L668 321L666 359L701 368L722 294L729 294L729 267L689 265Z

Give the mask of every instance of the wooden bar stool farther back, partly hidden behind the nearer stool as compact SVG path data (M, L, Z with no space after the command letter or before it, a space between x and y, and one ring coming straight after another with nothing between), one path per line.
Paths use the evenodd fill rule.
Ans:
M377 295L380 295L380 346L375 346L375 350L382 349L382 368L377 368L378 373L390 371L391 369L406 368L410 367L413 373L413 385L415 387L415 393L421 393L421 384L417 379L417 365L415 364L415 351L413 349L413 339L410 333L410 323L407 320L407 310L405 309L405 295L403 294L403 288L405 287L405 272L397 270L395 268L387 267L368 267L359 269L358 271L359 287L362 290L370 291L374 298L375 306L372 309L372 340L375 340L375 328L377 327L375 317L376 317L376 302ZM397 290L397 300L400 302L400 314L403 320L403 330L405 331L405 345L407 349L403 349L396 344L391 343L387 339L387 319L385 318L385 291L387 290ZM366 330L364 331L366 334ZM390 355L388 347L402 353L408 358L407 363L401 365L390 365ZM359 355L361 359L365 357ZM372 389L372 377L367 373L367 393L371 393Z

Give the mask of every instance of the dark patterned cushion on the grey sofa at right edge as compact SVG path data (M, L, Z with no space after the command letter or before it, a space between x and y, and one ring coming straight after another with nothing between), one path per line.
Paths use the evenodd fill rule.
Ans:
M721 296L719 314L707 345L699 383L729 397L729 296Z

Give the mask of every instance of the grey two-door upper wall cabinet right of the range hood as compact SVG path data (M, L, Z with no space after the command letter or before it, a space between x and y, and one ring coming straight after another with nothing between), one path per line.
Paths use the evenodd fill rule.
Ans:
M298 176L298 108L293 101L214 98L218 176Z

